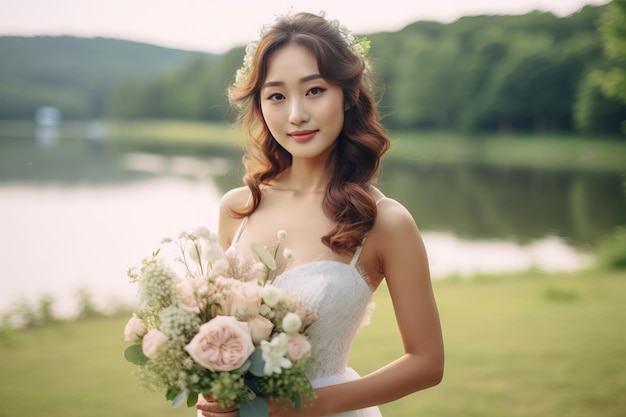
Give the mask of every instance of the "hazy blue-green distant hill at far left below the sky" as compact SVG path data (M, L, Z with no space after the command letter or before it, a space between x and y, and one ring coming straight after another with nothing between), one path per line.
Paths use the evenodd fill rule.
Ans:
M0 37L0 119L32 119L54 105L66 119L102 117L121 77L153 77L182 62L213 55L115 39ZM131 91L132 92L132 91Z

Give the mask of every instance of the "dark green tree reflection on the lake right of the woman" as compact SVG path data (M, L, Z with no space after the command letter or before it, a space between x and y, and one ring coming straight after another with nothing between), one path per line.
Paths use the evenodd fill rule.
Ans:
M478 166L389 163L385 192L403 201L422 229L467 239L528 243L560 236L589 248L626 223L619 175Z

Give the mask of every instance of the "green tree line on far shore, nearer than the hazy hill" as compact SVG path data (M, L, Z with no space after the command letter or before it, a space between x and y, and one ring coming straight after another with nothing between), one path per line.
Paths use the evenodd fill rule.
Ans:
M626 103L598 81L613 62L600 30L605 9L420 21L369 35L387 127L622 133ZM148 80L126 78L112 91L108 115L228 118L225 90L243 53L236 48L213 62L197 57Z

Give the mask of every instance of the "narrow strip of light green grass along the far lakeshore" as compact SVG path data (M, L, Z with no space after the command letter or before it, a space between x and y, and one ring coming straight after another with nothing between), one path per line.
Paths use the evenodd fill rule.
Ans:
M146 149L204 147L238 149L239 129L226 123L180 120L107 122L116 143ZM577 135L480 135L442 131L390 131L387 158L422 163L480 163L493 166L624 172L626 141Z

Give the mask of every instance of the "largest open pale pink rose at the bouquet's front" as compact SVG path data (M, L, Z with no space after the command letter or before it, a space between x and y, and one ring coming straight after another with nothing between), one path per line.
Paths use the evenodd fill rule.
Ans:
M200 326L185 350L196 363L210 371L232 371L248 360L254 352L254 344L248 323L233 316L217 316Z

